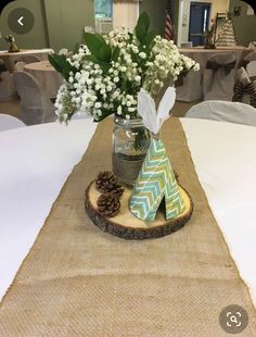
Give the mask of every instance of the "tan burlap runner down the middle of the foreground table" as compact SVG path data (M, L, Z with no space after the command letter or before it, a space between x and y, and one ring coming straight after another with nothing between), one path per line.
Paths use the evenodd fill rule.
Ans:
M219 313L229 304L248 313L241 336L256 336L248 290L178 120L166 122L162 139L194 201L191 221L164 238L127 241L88 219L85 189L99 171L111 168L111 137L112 121L100 123L2 300L0 336L227 336Z

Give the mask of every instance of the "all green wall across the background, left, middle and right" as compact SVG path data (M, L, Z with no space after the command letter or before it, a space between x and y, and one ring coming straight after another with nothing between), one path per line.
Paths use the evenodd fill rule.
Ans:
M35 26L27 35L17 35L8 27L8 16L17 7L28 8L35 16ZM142 0L140 13L146 11L151 17L152 27L157 34L164 34L166 0ZM171 2L172 23L178 27L179 0ZM241 16L234 16L234 27L240 45L247 46L256 40L256 16L246 15L247 4L240 0L230 0L230 11L233 7L241 7ZM85 26L94 27L93 0L18 0L9 3L1 15L0 32L15 36L22 49L51 47L55 51L61 48L73 49L81 39ZM8 45L0 38L0 50Z

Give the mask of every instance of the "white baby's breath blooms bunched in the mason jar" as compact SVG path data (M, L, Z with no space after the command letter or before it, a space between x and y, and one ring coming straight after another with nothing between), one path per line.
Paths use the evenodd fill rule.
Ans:
M73 66L68 80L60 88L55 101L60 122L67 122L75 111L86 111L94 121L116 112L129 120L137 117L137 99L141 87L157 96L159 89L181 72L197 71L199 64L179 53L174 41L156 36L151 50L139 50L137 37L127 28L103 36L112 51L119 47L117 58L110 61L108 71L87 61L90 51L79 46L77 54L68 55ZM103 109L102 109L103 108Z

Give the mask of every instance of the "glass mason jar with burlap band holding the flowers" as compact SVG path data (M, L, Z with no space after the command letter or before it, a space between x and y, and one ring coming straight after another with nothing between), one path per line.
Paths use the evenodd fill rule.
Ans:
M114 121L113 173L120 183L132 186L150 147L150 132L143 126L142 120L125 120L115 116Z

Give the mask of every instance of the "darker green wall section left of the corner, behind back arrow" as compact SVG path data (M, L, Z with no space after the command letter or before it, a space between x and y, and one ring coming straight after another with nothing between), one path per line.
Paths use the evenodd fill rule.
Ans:
M55 1L55 0L54 0ZM18 3L18 5L17 5ZM15 8L27 8L35 16L35 26L26 35L18 35L12 32L8 26L8 16ZM15 37L17 46L22 49L44 48L47 47L46 27L43 23L43 12L41 0L18 0L9 3L2 11L0 21L0 50L8 49L4 36L11 34Z

